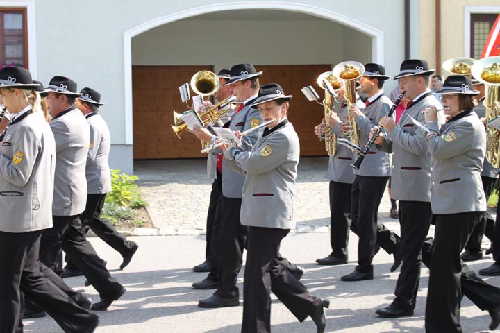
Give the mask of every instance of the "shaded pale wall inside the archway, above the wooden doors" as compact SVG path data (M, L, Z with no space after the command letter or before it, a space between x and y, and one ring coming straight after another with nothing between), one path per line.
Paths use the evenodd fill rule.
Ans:
M246 32L244 46L242 31ZM215 65L216 70L239 62L335 65L344 60L368 62L371 51L367 35L325 19L185 19L134 37L132 64Z

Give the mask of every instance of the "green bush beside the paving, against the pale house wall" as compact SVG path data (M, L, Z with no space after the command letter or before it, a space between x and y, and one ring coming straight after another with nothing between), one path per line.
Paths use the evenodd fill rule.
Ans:
M129 221L133 226L142 226L144 221L135 219L136 208L147 206L140 194L135 180L138 176L130 176L120 173L119 170L111 170L111 191L106 196L102 216L113 225L119 222Z

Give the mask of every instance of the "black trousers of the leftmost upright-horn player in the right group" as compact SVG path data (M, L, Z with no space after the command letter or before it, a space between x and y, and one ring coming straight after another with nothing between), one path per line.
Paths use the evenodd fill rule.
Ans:
M351 221L352 185L330 181L330 244L331 255L340 259L348 257L349 229L358 235L358 225ZM399 248L399 236L377 223L377 245L391 254Z

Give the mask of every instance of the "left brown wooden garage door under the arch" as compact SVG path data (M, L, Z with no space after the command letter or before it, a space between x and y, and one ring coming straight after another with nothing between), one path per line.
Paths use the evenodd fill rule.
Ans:
M179 85L212 66L133 66L133 155L136 159L203 157L199 139L188 132L178 139L172 110L188 110Z

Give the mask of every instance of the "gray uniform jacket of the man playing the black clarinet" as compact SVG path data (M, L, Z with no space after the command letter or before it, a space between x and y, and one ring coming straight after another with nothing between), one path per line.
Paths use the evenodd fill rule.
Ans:
M422 130L411 121L425 123L422 110L428 106L440 107L431 92L406 109L389 133L381 150L392 151L392 198L404 201L431 202L431 155Z

